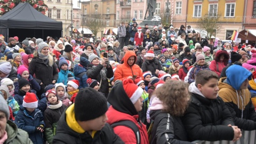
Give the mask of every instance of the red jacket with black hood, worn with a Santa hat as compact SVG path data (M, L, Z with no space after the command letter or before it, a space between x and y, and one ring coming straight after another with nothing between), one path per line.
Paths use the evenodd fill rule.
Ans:
M123 83L116 84L109 93L108 102L110 107L107 111L108 121L110 125L119 121L129 120L137 125L140 131L140 143L147 144L148 133L146 125L143 124L139 119L139 113L135 109L132 101L127 96ZM137 143L132 129L126 126L114 127L114 132L125 142L125 143Z

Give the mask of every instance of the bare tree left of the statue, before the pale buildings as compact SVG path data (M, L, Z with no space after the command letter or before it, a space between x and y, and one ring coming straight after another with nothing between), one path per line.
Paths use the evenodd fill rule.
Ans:
M92 31L95 37L97 37L98 31L106 27L106 23L103 20L103 16L101 14L90 14L90 18L84 19L85 26Z

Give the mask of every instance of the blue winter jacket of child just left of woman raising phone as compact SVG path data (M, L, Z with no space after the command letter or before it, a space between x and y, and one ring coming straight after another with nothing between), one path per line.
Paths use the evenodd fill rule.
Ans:
M79 81L78 89L88 87L88 84L86 82L88 79L86 74L87 70L81 65L75 65L73 71L74 71L75 79Z

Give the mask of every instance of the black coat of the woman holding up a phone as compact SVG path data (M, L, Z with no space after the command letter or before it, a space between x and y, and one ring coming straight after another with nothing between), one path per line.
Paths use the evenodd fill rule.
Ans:
M101 64L99 64L96 67L93 67L92 64L89 64L87 66L87 76L88 78L91 79L96 79L99 83L101 80L101 75L100 75L100 71L103 68L103 66ZM114 76L114 72L111 66L109 66L109 68L107 69L107 78L111 78ZM108 97L108 93L109 93L109 84L108 84L108 79L101 81L101 86L100 86L100 92L105 94L105 97Z

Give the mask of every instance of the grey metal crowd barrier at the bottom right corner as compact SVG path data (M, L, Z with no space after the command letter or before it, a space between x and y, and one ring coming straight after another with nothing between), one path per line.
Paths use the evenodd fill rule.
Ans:
M221 141L204 141L204 140L196 140L193 141L193 143L198 144L256 144L256 131L243 131L242 137L236 141L227 141L227 140L221 140Z

